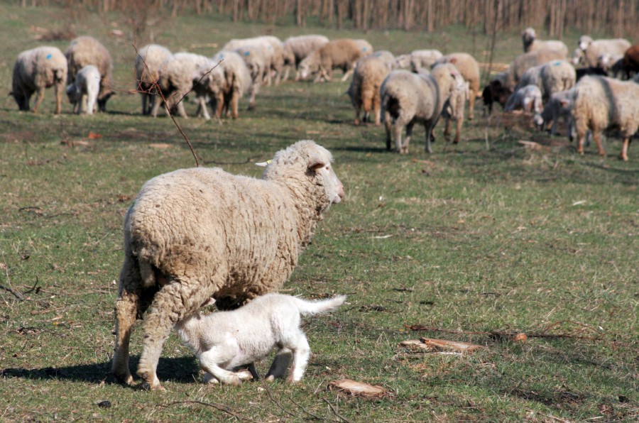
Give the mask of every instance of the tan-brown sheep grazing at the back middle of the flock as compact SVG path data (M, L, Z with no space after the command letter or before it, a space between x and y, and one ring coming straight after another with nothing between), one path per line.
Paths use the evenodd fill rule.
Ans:
M329 41L300 62L300 77L306 79L312 73L317 73L314 82L324 78L330 81L333 69L342 69L342 82L351 75L361 57L373 53L372 48L364 45L364 40L338 39Z

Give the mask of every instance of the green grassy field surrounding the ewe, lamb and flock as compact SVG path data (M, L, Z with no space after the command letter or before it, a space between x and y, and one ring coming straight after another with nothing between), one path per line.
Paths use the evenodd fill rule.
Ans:
M236 121L179 119L205 165L258 176L252 163L313 138L332 151L346 199L329 211L284 291L346 293L327 317L307 319L310 366L299 385L205 386L172 335L158 366L167 392L123 387L109 376L121 224L143 182L194 159L170 119L140 116L127 17L0 6L0 420L115 421L635 421L639 418L639 153L574 153L564 137L481 114L459 145L435 133L423 151L387 153L383 128L354 126L348 83L265 87L256 111ZM18 112L16 55L45 29L94 35L116 62L109 113ZM124 37L109 35L120 29ZM160 18L154 40L213 55L229 38L321 32L366 38L405 53L474 53L484 35L232 25L226 18ZM145 33L148 42L151 32ZM579 33L569 33L574 45ZM497 62L520 51L498 37ZM191 114L193 104L187 105ZM498 114L497 114L498 115ZM534 141L525 148L518 141ZM634 146L636 147L636 145ZM413 329L411 329L411 326ZM416 330L420 329L421 330ZM139 327L138 327L139 329ZM528 341L511 334L524 332ZM412 351L420 336L479 344L474 353ZM141 330L133 335L133 363ZM258 370L266 372L268 363ZM381 385L375 400L327 390L350 378ZM110 407L99 403L108 401Z

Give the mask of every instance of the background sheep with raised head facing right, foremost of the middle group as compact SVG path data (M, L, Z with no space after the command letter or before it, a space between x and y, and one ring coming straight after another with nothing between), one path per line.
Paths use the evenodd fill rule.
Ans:
M395 149L408 153L410 136L415 123L426 128L427 153L431 153L432 130L442 114L444 104L454 89L464 84L464 79L451 63L435 67L430 75L419 75L407 70L393 70L384 79L380 88L381 111L386 128L386 149L391 150L391 123ZM406 127L406 138L402 143L402 129Z

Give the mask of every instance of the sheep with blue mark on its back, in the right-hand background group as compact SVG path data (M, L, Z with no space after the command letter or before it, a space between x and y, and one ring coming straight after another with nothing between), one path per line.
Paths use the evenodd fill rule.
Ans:
M543 65L530 67L522 75L517 88L536 85L547 100L553 92L571 89L577 80L574 67L566 60L552 60Z

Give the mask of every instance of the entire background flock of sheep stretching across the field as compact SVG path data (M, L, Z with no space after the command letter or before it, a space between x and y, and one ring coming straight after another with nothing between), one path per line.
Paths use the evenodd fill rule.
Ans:
M584 35L569 57L562 41L539 40L532 28L523 32L522 40L524 53L481 92L488 113L494 101L506 112L532 111L538 126L552 123L553 134L563 119L571 140L577 137L579 153L584 152L584 141L591 132L599 153L605 154L601 132L617 128L623 138L621 158L628 160L630 138L639 126L639 86L616 77L630 79L639 70L639 45L632 46L624 39L592 40ZM435 72L440 65L448 65L447 71ZM438 50L415 50L395 57L386 50L373 50L366 40L329 40L323 35L301 35L283 42L266 35L234 39L213 57L173 54L163 46L146 45L136 56L136 88L141 92L145 115L157 116L160 106L165 106L167 112L187 117L183 99L193 92L197 116L210 119L210 106L217 118L229 114L237 118L244 94L253 109L261 85L288 79L292 69L295 80L313 77L315 82L330 81L334 69L344 72L343 81L353 74L348 94L355 108L355 123L360 123L362 112L364 121L383 121L386 146L390 150L394 138L398 153L408 153L415 123L425 126L425 148L430 152L432 131L440 117L446 121L446 138L451 121L455 121L454 142L458 143L466 102L470 120L480 94L479 65L467 53L442 55ZM13 69L12 94L19 108L28 110L35 92L33 111L37 111L44 89L55 86L56 113L60 113L66 87L74 110L92 114L96 108L104 111L112 94L112 70L104 45L81 36L72 40L64 54L53 47L21 53ZM158 95L162 101L156 101Z

